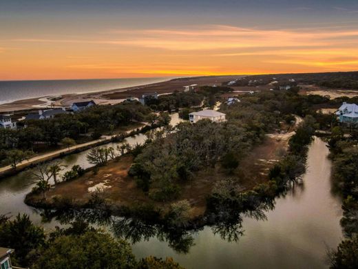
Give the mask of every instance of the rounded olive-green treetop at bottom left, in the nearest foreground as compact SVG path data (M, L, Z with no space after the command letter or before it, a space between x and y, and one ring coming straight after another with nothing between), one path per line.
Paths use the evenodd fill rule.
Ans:
M110 235L87 231L83 235L58 237L44 248L34 269L135 268L129 243Z

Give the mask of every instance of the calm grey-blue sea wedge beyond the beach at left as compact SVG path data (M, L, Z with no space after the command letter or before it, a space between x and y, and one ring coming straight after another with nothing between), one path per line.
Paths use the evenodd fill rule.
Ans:
M166 81L171 78L71 79L41 81L0 81L0 104L59 94L99 92Z

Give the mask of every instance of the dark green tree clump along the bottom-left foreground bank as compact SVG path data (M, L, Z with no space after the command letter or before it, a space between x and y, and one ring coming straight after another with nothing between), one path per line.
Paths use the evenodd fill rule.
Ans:
M182 268L173 259L136 260L129 243L77 220L68 228L46 233L27 215L10 220L0 215L1 246L16 248L15 266L30 268Z

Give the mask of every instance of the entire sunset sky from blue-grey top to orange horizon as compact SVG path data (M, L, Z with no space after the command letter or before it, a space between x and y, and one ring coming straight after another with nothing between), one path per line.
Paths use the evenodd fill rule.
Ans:
M0 80L350 70L357 0L0 1Z

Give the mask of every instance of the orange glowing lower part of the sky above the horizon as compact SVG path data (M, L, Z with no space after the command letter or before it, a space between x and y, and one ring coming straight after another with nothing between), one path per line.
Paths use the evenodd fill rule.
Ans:
M358 29L103 30L0 41L0 80L358 70Z

